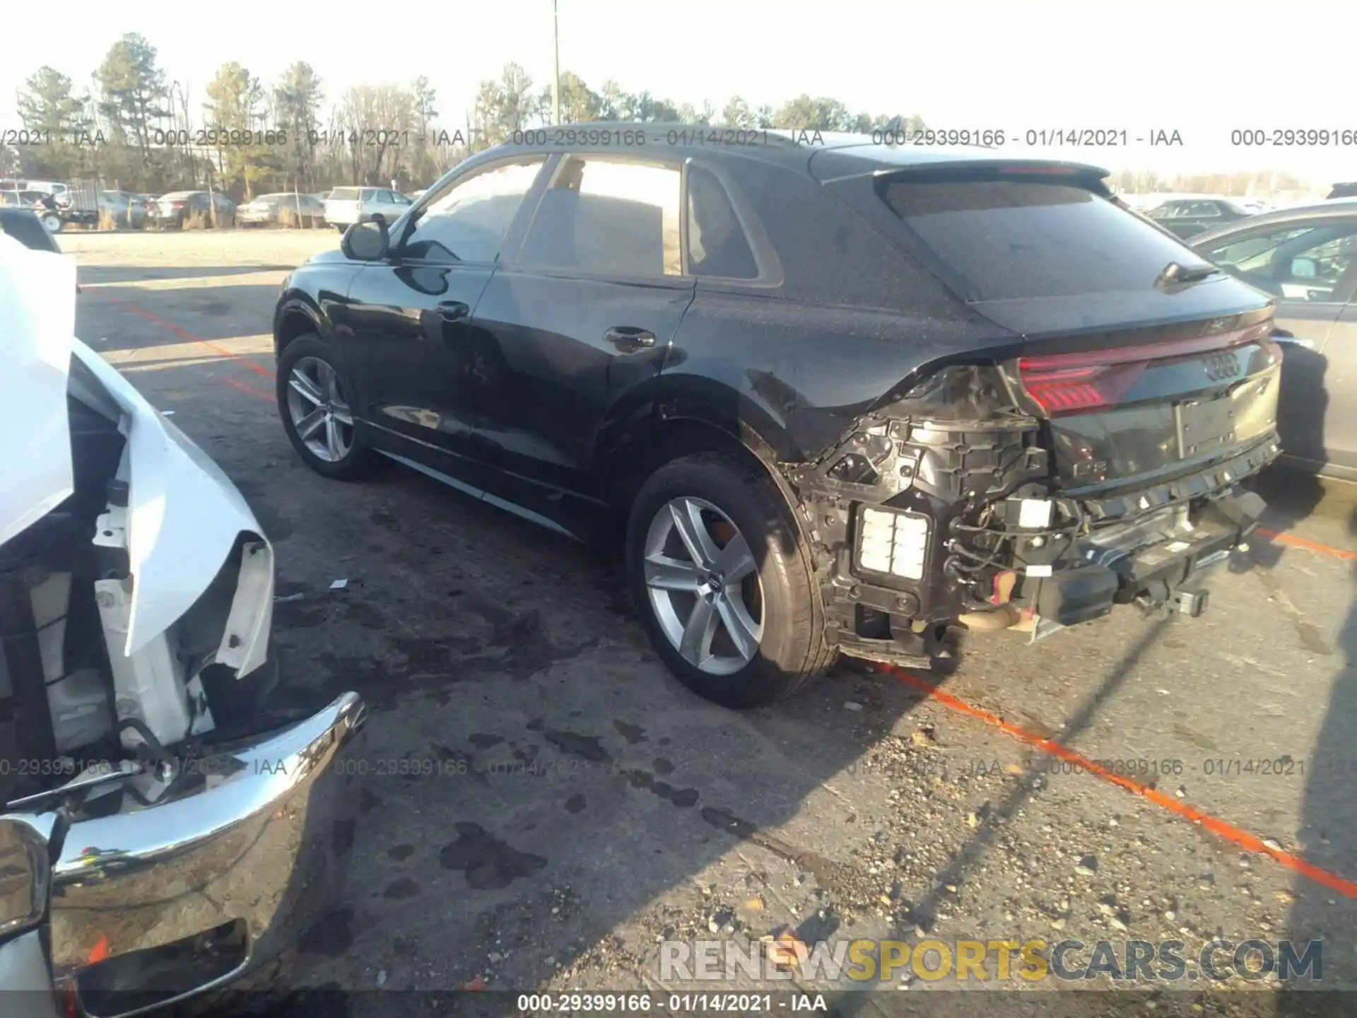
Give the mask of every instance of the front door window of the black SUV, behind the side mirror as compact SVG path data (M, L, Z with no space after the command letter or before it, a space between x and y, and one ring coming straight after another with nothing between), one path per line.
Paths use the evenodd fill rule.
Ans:
M419 210L402 255L434 262L497 261L543 159L501 163L446 185Z

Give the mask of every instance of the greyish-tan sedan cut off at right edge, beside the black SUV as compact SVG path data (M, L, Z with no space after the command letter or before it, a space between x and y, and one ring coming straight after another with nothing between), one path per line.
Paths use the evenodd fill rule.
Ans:
M1281 464L1357 480L1357 198L1265 213L1191 244L1277 301Z

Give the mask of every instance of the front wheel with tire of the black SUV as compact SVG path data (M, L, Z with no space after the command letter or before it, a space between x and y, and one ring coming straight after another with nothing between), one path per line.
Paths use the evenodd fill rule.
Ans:
M357 436L351 388L339 360L315 333L282 350L277 369L278 414L288 441L311 470L335 480L360 480L377 466Z

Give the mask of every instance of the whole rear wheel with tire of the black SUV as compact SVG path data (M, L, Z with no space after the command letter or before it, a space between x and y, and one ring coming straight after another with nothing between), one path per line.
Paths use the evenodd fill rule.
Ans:
M632 504L627 580L669 671L714 703L771 703L833 664L810 550L757 464L704 452L657 470Z

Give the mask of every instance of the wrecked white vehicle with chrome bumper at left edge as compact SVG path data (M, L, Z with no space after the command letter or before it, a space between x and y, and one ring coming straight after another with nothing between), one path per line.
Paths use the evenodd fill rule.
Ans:
M7 1018L133 1014L292 946L338 904L353 794L332 763L364 721L354 694L261 711L269 539L73 338L75 282L0 232L0 418L20 436L0 486Z

